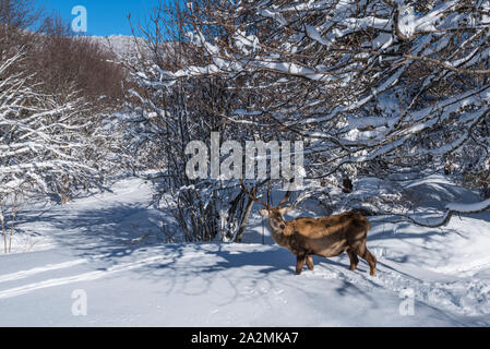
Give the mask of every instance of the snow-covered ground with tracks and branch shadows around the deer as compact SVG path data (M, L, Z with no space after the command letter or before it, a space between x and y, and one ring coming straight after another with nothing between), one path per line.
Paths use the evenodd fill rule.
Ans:
M462 194L441 178L423 185L434 201ZM128 179L33 207L16 253L0 254L0 326L490 325L488 213L440 229L372 219L377 277L363 261L349 272L346 255L295 276L292 254L268 234L261 244L256 209L249 243L165 245L151 200L148 184ZM87 314L75 316L83 296Z

